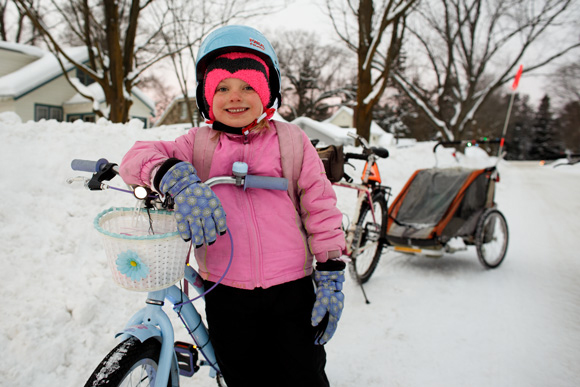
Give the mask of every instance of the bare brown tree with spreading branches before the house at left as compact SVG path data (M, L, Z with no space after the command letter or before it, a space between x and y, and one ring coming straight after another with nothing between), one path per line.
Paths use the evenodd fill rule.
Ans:
M81 95L95 102L93 109L96 114L113 122L128 120L132 105L131 90L143 72L199 41L202 35L194 41L189 38L190 35L181 40L181 35L172 32L182 28L183 18L199 15L198 22L203 28L197 32L203 34L232 20L234 16L245 17L256 13L256 8L236 0L212 2L215 12L211 14L202 12L207 8L203 0L50 0L44 1L43 5L34 0L14 2L42 33L63 70L65 61L68 61L102 87L108 111L99 109L96 97L69 79ZM58 19L55 27L47 23L47 10L57 11L52 13L52 17ZM66 39L60 37L64 35L63 31ZM87 47L87 63L75 61L68 55L66 45L71 41ZM66 72L65 76L68 79Z

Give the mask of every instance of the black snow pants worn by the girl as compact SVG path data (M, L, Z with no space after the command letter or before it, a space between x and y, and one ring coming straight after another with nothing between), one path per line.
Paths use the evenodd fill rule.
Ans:
M206 289L212 282L205 282ZM218 285L205 296L210 339L228 387L328 387L314 345L310 277L253 290Z

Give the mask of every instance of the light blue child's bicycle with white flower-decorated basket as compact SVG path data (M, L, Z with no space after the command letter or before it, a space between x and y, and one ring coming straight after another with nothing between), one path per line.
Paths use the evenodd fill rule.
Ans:
M172 213L165 210L171 204L162 202L144 187L129 191L104 183L118 174L116 164L104 159L74 160L71 166L94 174L91 179L69 179L69 183L81 180L90 190L111 188L131 192L144 204L141 209L111 208L95 219L95 227L104 239L113 279L124 288L148 294L146 306L118 333L120 343L101 361L85 386L179 386L180 375L191 377L201 366L208 366L210 376L216 378L219 386L225 386L207 328L192 304L213 287L204 289L199 274L186 265L190 244L183 242ZM234 176L214 177L206 184L287 190L288 181L284 178L253 176L247 171L245 163L235 163ZM198 297L188 297L187 283L185 291L175 285L183 277L199 293ZM174 342L172 322L162 309L166 301L173 305L193 344Z

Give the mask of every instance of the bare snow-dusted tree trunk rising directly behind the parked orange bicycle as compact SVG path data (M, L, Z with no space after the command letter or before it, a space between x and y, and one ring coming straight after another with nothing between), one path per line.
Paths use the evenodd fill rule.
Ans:
M405 20L418 0L326 0L334 30L357 55L354 126L370 138L372 109L387 88L401 49ZM384 39L383 39L384 38ZM384 41L387 40L387 41Z

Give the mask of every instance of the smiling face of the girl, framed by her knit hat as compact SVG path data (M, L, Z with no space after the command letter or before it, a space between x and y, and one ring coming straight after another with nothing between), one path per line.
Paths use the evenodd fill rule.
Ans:
M258 93L237 78L226 78L218 84L212 108L216 121L234 128L248 126L263 110Z

